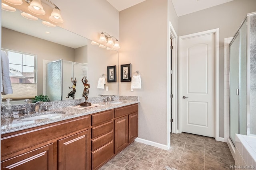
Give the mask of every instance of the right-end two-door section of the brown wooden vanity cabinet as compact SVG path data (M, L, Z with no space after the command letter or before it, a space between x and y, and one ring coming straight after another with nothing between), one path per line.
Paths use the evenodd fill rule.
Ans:
M115 109L114 134L115 154L138 137L138 104Z

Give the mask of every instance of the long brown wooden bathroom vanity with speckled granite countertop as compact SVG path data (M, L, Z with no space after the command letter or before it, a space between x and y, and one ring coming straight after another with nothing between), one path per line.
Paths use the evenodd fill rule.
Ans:
M138 101L55 110L66 114L22 130L5 127L1 169L96 170L138 137Z

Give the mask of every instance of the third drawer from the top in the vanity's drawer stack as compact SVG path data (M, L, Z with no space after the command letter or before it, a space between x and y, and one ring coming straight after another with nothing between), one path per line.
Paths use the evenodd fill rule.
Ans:
M113 131L92 140L92 151L99 149L113 140Z

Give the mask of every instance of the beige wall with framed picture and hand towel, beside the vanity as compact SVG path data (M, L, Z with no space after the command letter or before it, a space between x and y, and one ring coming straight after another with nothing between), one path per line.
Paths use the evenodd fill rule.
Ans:
M177 16L168 11L168 0L146 0L120 12L120 64L132 63L140 71L142 88L130 91L131 82L120 82L120 95L140 96L139 138L168 145L167 54L168 23Z

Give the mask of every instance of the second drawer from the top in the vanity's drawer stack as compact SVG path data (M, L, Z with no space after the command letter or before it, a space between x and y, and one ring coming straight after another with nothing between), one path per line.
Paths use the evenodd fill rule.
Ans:
M113 121L92 128L92 139L113 130Z

